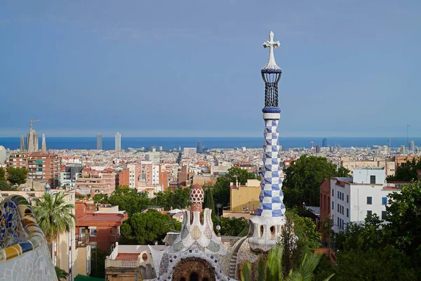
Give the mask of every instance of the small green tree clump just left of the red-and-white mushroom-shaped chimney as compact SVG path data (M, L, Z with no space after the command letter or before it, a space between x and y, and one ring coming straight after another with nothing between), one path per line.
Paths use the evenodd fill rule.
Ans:
M178 187L173 192L171 188L168 188L166 192L158 192L155 198L150 200L151 205L158 205L163 207L165 210L183 209L189 205L190 188Z

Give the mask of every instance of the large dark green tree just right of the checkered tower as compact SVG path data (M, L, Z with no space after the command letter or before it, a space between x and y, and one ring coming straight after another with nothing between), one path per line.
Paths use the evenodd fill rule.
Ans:
M323 178L347 176L349 170L329 163L326 157L302 155L285 169L283 202L288 207L320 205L320 184Z

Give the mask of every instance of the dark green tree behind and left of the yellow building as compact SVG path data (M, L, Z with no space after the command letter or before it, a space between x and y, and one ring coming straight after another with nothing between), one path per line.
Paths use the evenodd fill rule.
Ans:
M231 167L228 169L225 176L220 176L213 185L213 199L215 203L220 203L226 207L229 204L230 197L230 183L245 185L248 179L254 179L256 175L239 167Z

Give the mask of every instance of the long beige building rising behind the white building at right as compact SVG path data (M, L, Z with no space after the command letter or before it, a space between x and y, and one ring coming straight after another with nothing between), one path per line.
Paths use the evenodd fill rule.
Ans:
M385 168L386 176L394 176L396 163L394 159L373 157L370 160L353 159L352 157L340 157L340 166L343 166L353 174L355 168Z

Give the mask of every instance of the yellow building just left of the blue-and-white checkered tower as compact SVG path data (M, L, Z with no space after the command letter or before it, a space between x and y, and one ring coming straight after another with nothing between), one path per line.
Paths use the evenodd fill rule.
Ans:
M260 181L247 180L246 185L234 185L231 183L229 206L233 212L250 212L258 209Z

